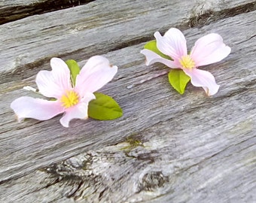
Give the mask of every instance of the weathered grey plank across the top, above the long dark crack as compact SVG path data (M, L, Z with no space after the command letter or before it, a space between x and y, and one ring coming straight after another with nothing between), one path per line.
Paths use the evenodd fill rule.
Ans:
M107 53L148 41L159 29L166 31L170 26L187 28L187 24L197 20L199 14L211 11L215 16L215 12L233 7L237 8L238 14L243 4L249 5L245 6L248 11L253 10L256 7L253 2L230 0L223 5L221 1L205 0L121 0L118 4L108 1L111 9L105 9L105 1L96 1L6 23L0 26L0 82L35 75L39 69L48 67L48 60L53 56L81 59L81 56L87 58Z

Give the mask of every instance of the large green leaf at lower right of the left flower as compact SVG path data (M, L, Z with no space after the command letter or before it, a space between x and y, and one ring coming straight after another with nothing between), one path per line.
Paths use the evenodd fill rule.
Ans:
M94 92L96 99L89 102L88 116L96 120L114 120L123 115L123 111L114 98Z

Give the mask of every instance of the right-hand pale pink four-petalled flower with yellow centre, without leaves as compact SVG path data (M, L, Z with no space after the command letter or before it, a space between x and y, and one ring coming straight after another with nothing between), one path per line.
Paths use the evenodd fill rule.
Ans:
M197 67L219 62L230 54L230 47L223 43L220 35L212 33L198 39L187 53L187 42L182 32L171 28L165 35L159 32L154 33L157 41L157 49L161 53L170 56L172 60L164 59L151 50L141 51L146 56L146 65L154 62L161 62L169 68L181 68L187 74L194 86L202 86L207 95L214 95L218 92L219 85L215 77L209 71L203 71Z

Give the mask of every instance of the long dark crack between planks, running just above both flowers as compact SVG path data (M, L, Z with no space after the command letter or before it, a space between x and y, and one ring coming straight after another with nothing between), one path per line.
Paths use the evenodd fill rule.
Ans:
M204 26L208 25L209 23L222 20L226 17L233 17L238 14L254 11L256 9L256 3L248 3L245 5L240 5L235 8L228 8L221 11L206 11L206 13L198 14L196 17L191 17L188 22L182 23L177 28L182 29L189 29L190 27L197 27L197 26ZM169 29L169 26L163 27L160 29L161 33L166 32ZM252 36L253 37L253 36ZM150 41L154 39L153 33L152 35L144 35L140 37L131 38L130 40L123 41L116 44L111 44L109 46L108 50L97 50L97 49L90 49L90 47L84 47L82 49L78 49L75 51L67 51L66 53L59 54L58 57L68 57L68 56L74 56L78 53L81 53L81 51L87 49L87 50L93 50L93 52L84 54L84 57L89 57L93 55L102 55L106 52L113 52L116 50L123 49L125 47L131 47L135 46L137 44L141 44L147 41ZM26 63L26 65L19 65L17 62L17 67L15 71L6 71L2 72L0 83L6 83L7 81L11 80L20 80L25 79L27 77L31 77L32 75L35 75L37 73L37 70L42 68L44 65L46 65L51 56L44 57L44 59L38 59L35 62L32 63ZM35 69L35 70L34 70ZM29 70L29 71L26 71Z

